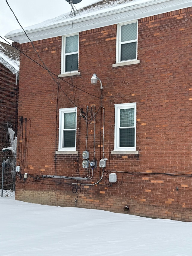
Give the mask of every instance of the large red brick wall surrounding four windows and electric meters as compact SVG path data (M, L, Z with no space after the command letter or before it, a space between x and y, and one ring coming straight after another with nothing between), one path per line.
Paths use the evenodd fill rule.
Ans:
M74 206L77 200L78 207L114 212L124 212L123 207L128 205L130 214L191 220L192 177L184 177L191 174L192 167L191 22L192 8L139 20L140 64L116 68L112 67L116 62L116 25L79 33L81 75L63 80L55 77L59 90L46 70L21 55L19 116L26 118L26 127L19 145L27 140L28 146L18 164L22 173L31 176L25 182L22 176L18 179L17 199L60 206ZM47 68L60 74L61 37L37 41L34 45ZM41 63L30 43L22 44L20 49ZM97 73L104 87L102 101L100 84L90 83L93 73ZM71 183L75 181L40 178L46 174L85 175L82 152L86 146L86 123L80 118L79 109L78 154L55 155L58 109L74 107L72 102L83 111L92 104L96 110L101 104L105 108L104 158L108 160L104 178L97 185L81 185L79 194L72 192ZM137 102L139 154L114 155L110 153L114 148L114 104L130 102ZM103 150L102 114L100 109L95 120L98 164ZM93 133L94 123L91 123L87 144L90 160ZM110 172L117 173L118 180L113 186L108 186ZM97 182L101 174L97 167L90 182L82 183Z

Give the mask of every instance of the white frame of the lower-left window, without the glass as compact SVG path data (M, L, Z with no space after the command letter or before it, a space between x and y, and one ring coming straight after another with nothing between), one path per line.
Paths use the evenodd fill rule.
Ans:
M63 147L63 130L64 130L64 113L76 113L75 121L75 147L64 148ZM76 129L77 128L77 108L60 108L59 109L59 141L58 141L58 151L76 151Z

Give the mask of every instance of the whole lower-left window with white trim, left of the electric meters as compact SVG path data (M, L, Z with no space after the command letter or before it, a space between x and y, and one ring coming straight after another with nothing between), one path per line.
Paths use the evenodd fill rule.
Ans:
M59 109L58 151L76 150L76 108Z

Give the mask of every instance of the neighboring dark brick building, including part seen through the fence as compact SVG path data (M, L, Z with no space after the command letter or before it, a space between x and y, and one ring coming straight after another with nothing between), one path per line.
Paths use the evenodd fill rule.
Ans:
M19 44L13 43L15 47ZM15 155L11 151L2 152L10 146L8 129L17 132L19 96L19 50L0 42L0 183L2 181L2 161L7 158L9 164L4 169L4 189L14 188L13 170ZM0 195L1 196L1 195Z

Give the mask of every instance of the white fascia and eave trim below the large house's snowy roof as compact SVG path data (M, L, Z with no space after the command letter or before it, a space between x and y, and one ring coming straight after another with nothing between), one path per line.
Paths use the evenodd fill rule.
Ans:
M92 15L87 15L86 17L82 18L75 17L73 19L73 33L128 22L131 20L138 20L191 6L191 0L155 0L97 15L94 15L93 13ZM26 33L31 41L38 41L46 38L70 34L71 29L72 19L40 29L26 30ZM19 44L29 42L29 39L26 37L24 32L14 33L13 31L7 34L6 38L18 42Z

